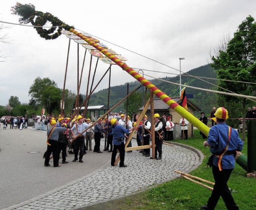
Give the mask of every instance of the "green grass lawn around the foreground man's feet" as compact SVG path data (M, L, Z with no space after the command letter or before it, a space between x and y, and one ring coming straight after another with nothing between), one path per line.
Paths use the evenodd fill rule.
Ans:
M200 136L199 131L195 130L194 137L188 140L174 140L174 142L186 144L200 150L204 154L204 160L202 164L190 174L214 182L212 169L205 167L210 151L209 148L203 147L204 140L202 139L202 136ZM247 155L247 141L244 142L244 150L242 153ZM253 210L256 209L256 179L247 178L246 174L247 172L236 164L228 181L228 186L232 190L237 191L232 192L232 196L240 210ZM208 190L199 184L184 178L178 178L126 198L110 201L104 204L97 204L95 206L90 206L90 208L83 209L198 210L201 205L207 203L211 192L211 190ZM220 198L215 209L226 209L222 198Z

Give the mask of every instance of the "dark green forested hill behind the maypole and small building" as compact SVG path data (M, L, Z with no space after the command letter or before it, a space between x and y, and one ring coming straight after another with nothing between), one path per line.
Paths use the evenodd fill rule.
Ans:
M214 70L210 67L210 64L200 66L196 69L192 69L187 72L188 74L192 76L198 76L198 77L207 77L207 78L216 78L216 73ZM205 81L202 81L200 79L197 79L195 77L191 76L185 76L186 74L182 74L182 84L186 83L186 85L190 85L193 87L200 87L204 89L216 89L214 85L211 85L210 83L217 84L216 80L212 79L202 79L206 80L210 83L206 83ZM164 77L161 78L166 81L171 81L175 83L180 83L180 76L177 75L176 77ZM180 88L178 85L170 84L167 82L159 81L157 79L150 80L151 83L156 85L161 91L166 93L166 95L170 97L175 97L180 95ZM134 81L132 83L129 83L129 92L136 89L140 86L140 83L138 81ZM142 88L139 89L139 91L142 91ZM145 91L145 88L144 88ZM110 87L110 107L113 107L116 105L121 99L123 99L126 96L127 93L127 85L118 85L114 87ZM206 91L200 91L197 89L192 88L186 88L186 95L192 94L193 99L191 100L194 104L196 104L202 111L206 113L206 116L209 116L210 111L212 110L212 107L217 106L216 104L216 96L213 93L209 93ZM106 105L108 103L108 89L103 89L101 91L98 91L97 93L94 93L91 96L90 99L90 106L92 105ZM140 107L138 107L140 108ZM114 111L120 111L124 110L123 104L118 106ZM196 115L198 113L195 113ZM199 113L200 115L200 113Z

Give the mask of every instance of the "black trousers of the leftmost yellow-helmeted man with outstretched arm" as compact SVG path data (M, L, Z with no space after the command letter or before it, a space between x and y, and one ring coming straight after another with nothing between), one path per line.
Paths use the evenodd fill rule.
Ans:
M59 165L59 159L60 159L60 149L59 149L59 143L58 141L49 140L48 141L51 145L47 145L47 151L46 156L44 159L44 165L47 166L50 161L50 155L53 156L53 166Z

